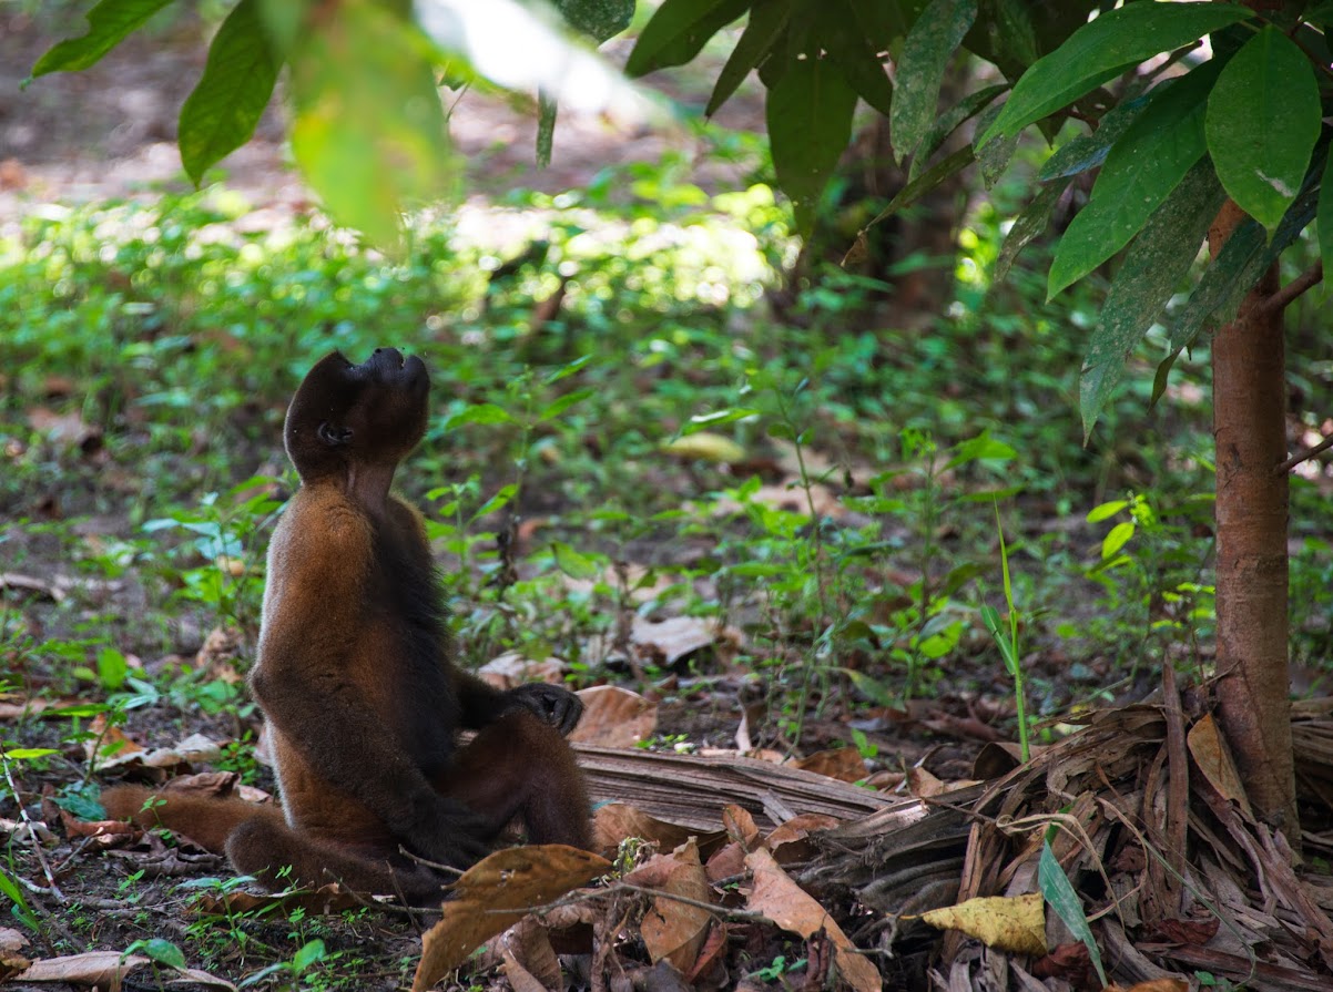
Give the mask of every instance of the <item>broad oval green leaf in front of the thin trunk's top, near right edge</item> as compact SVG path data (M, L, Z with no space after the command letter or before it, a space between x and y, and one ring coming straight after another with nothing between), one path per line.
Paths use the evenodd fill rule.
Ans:
M1314 67L1272 25L1232 57L1208 99L1208 150L1217 177L1269 230L1296 200L1320 119Z

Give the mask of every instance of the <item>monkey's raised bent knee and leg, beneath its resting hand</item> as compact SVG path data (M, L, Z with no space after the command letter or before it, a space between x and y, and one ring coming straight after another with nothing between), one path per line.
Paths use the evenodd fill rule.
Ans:
M492 836L519 819L533 844L588 850L588 790L573 748L527 711L505 714L459 751L436 787L485 818Z

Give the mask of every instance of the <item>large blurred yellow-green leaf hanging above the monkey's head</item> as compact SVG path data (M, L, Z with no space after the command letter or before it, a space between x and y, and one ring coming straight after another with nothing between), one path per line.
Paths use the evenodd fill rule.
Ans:
M409 201L449 192L429 44L375 0L345 0L292 52L292 152L335 220L396 242Z

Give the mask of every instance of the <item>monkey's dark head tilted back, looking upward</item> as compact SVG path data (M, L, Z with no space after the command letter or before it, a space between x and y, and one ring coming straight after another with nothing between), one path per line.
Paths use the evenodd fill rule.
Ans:
M431 377L416 356L377 348L361 365L324 356L287 409L283 441L301 479L397 465L425 434Z

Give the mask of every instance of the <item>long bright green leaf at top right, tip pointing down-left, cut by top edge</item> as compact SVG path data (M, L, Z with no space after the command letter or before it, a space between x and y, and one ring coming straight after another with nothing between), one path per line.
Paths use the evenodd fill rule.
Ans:
M1244 7L1230 4L1137 3L1108 11L1022 73L977 148L1017 134L1145 59L1249 16Z

